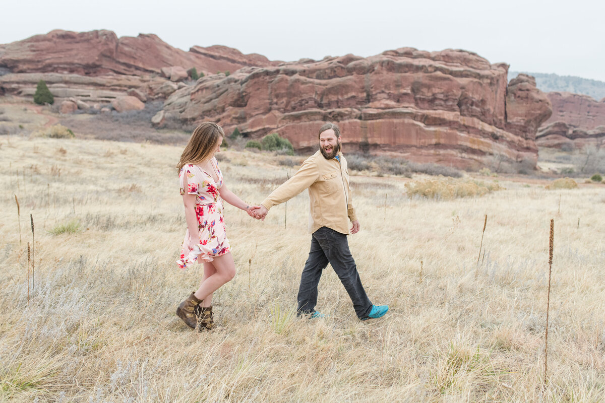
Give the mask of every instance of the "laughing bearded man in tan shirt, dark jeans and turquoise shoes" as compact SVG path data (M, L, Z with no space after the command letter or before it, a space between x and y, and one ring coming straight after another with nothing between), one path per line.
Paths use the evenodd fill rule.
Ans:
M353 301L361 320L382 317L388 305L372 305L365 294L355 260L348 248L347 235L359 231L351 191L348 186L347 160L341 153L341 134L336 124L325 123L319 129L319 151L307 158L292 178L284 182L255 210L263 219L274 205L283 203L309 189L312 234L309 259L302 270L298 288L298 315L323 317L315 311L317 285L321 272L330 263ZM348 228L348 220L352 228Z

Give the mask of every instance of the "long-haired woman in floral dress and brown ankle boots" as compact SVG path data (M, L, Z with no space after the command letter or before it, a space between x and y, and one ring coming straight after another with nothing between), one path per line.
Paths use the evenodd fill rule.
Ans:
M212 329L212 293L235 276L221 199L251 217L258 208L242 201L223 183L223 175L214 158L214 154L220 152L223 137L223 129L218 124L201 123L189 138L177 165L187 222L177 264L185 269L196 261L204 263L200 287L180 303L177 315L198 331Z

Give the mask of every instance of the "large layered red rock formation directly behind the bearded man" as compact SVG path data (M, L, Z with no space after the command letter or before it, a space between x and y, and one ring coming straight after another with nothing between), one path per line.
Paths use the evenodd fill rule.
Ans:
M402 153L458 167L494 157L535 165L535 131L550 103L523 76L507 96L507 71L504 63L458 50L299 60L204 77L174 92L155 121L212 120L250 138L278 132L309 152L319 126L332 120L348 152Z

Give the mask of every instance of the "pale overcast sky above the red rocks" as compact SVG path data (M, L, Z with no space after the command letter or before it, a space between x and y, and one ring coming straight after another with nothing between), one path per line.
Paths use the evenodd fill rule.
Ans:
M272 60L456 48L514 71L605 81L603 0L4 0L0 10L0 44L53 29L107 29Z

